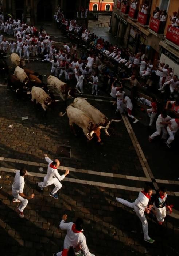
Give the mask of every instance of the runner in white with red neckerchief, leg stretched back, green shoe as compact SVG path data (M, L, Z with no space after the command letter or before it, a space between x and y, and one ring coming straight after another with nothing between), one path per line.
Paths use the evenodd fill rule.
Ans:
M116 201L134 209L135 213L137 214L137 216L142 222L144 240L146 242L149 242L150 244L153 244L154 240L148 236L148 222L144 214L145 212L149 214L151 207L153 207L152 204L148 205L149 200L151 200L151 195L152 195L152 188L147 186L143 191L139 192L138 198L133 203L118 197L116 197Z

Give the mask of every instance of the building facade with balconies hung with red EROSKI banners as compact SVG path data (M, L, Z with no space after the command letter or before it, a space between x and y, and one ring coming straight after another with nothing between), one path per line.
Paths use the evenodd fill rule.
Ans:
M179 0L131 1L114 1L112 35L133 52L144 52L154 65L156 59L169 64L179 76L179 27L171 25L171 17L179 15ZM157 17L163 10L165 21Z

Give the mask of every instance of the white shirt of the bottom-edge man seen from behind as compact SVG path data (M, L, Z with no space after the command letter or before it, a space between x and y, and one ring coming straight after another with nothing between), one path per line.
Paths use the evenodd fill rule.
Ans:
M73 222L65 223L65 221L62 219L60 222L60 229L67 230L67 234L64 239L63 248L69 249L70 246L73 246L75 248L77 245L81 245L81 249L85 256L92 256L92 254L89 252L89 249L86 244L86 238L82 232L75 233L72 230L72 226L74 225Z

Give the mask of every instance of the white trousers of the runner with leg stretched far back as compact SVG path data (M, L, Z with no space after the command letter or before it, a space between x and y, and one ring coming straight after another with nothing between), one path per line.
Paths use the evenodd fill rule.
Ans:
M145 217L144 212L134 205L135 202L130 203L127 200L124 200L122 198L117 198L116 200L117 200L117 202L119 202L121 204L124 204L125 206L128 206L128 207L134 209L135 213L137 214L140 221L142 222L142 229L143 229L143 233L144 233L144 239L149 240L150 237L148 236L148 222L147 222L147 219Z

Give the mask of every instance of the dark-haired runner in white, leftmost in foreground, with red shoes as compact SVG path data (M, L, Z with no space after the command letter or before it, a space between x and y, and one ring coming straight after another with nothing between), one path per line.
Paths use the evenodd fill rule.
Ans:
M12 195L14 196L12 202L21 202L20 206L17 208L17 213L19 214L20 218L24 218L23 210L28 204L27 199L32 199L35 197L34 194L31 194L30 196L26 196L23 193L25 181L24 176L27 175L27 170L25 168L22 168L20 171L17 170L14 182L12 184Z

